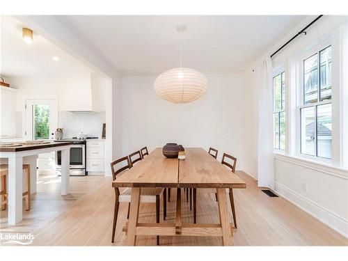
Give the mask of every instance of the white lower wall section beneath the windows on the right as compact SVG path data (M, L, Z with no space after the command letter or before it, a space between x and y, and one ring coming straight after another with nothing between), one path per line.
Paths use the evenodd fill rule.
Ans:
M347 171L277 157L274 180L280 196L348 237Z

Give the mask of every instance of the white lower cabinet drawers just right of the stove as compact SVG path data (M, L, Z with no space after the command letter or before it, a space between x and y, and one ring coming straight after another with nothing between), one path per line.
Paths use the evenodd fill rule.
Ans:
M104 141L86 141L86 171L88 175L104 173Z

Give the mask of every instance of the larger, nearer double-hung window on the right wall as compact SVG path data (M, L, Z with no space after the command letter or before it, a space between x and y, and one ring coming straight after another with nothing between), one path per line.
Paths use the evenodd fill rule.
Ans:
M301 153L331 159L331 46L303 61Z

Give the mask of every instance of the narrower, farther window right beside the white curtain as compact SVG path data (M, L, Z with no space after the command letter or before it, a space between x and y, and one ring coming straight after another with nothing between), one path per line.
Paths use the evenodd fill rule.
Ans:
M285 150L285 72L273 77L274 148Z

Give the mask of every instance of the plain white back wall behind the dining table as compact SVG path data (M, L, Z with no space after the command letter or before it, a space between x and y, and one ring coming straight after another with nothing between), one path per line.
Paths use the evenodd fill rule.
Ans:
M200 100L172 104L153 90L156 76L122 77L122 155L147 145L211 146L237 157L242 166L242 76L207 75L209 87Z

